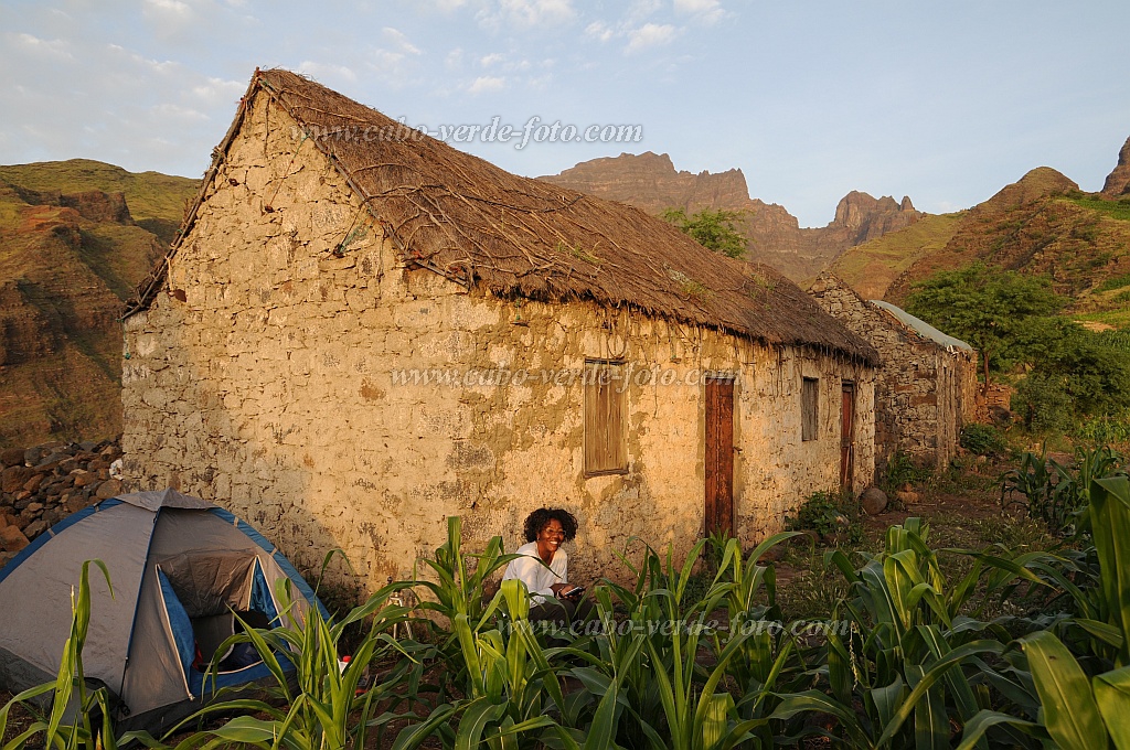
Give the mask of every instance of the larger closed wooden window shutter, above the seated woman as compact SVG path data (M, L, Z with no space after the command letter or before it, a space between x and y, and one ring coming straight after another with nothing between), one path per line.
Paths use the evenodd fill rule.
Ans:
M584 364L584 473L627 472L627 374L623 363L603 359Z

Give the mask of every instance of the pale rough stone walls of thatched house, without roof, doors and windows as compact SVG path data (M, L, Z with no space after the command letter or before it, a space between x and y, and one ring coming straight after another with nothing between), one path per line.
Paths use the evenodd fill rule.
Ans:
M590 303L469 294L397 259L344 180L263 98L149 309L125 321L125 469L371 586L410 573L464 517L471 548L541 505L581 520L580 577L633 535L686 551L703 526L702 375L736 377L737 531L780 530L838 481L840 385L858 383L857 486L873 471L873 373ZM268 210L268 207L270 210ZM586 358L628 365L629 466L583 471ZM820 434L800 441L801 377Z

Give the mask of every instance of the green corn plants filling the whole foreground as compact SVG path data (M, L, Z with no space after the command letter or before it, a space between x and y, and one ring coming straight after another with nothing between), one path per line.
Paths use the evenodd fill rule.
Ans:
M1054 481L1055 465L1044 462L1046 473L1031 483L1076 487L1078 523L1094 530L1089 550L1017 552L999 543L937 550L927 524L907 518L887 530L877 555L825 556L823 577L845 587L816 622L783 621L775 570L762 562L799 533L789 532L748 556L738 540L716 534L681 560L670 548L662 555L633 540L620 556L628 583L605 578L592 586L592 621L539 630L520 582L504 582L483 599L486 579L513 556L497 539L484 552L464 552L459 518L452 518L447 542L424 560L428 582L390 584L330 621L288 607L284 588L285 623L229 639L252 643L277 684L266 698L218 696L191 721L234 717L177 738L177 750L389 747L383 733L391 726L398 727L395 750L767 750L829 741L897 750L1123 747L1130 480L1118 473L1109 448L1076 462ZM835 496L815 494L806 505L831 512ZM997 529L990 537L1016 543L1031 534ZM967 565L944 564L944 555ZM692 596L704 558L710 575ZM390 637L392 626L412 619L393 601L410 586L426 590L420 607L449 623L435 626L442 637L432 645ZM1046 592L1038 617L981 619L993 598L1031 600L1033 592ZM41 735L60 750L115 750L130 739L168 748L147 735L115 738L110 722L98 726L105 694L82 692L88 621L84 570L60 678L17 701L50 691L62 698L3 750ZM358 625L364 634L341 669L341 638ZM281 654L295 668L289 679ZM364 683L371 673L372 683ZM52 716L70 695L79 696L81 710L67 727ZM0 732L14 703L0 708Z

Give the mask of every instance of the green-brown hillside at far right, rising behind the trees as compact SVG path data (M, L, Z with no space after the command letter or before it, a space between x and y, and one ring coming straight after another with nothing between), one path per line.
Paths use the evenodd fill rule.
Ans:
M967 211L930 216L843 253L832 271L896 304L918 281L983 261L1043 274L1084 321L1130 326L1130 141L1103 193L1038 167Z

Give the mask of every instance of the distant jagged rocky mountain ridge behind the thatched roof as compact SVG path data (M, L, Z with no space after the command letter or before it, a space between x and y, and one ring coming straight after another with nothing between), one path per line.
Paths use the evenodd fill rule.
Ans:
M668 208L738 211L739 229L749 238L746 259L772 265L794 281L815 276L847 247L912 226L923 216L909 198L896 202L852 191L827 226L801 228L783 207L750 198L741 169L693 174L676 171L667 154L650 151L582 162L538 178L655 215Z

